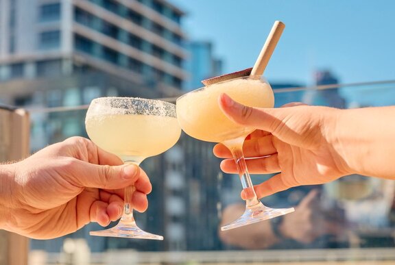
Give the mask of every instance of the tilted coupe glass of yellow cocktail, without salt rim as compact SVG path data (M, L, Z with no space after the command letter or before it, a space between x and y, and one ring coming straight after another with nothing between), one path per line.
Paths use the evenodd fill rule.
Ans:
M273 108L274 94L270 84L259 77L239 77L193 90L177 99L178 123L193 138L206 142L222 142L232 152L244 192L248 194L246 211L222 230L257 223L294 212L294 208L272 209L256 197L254 186L243 156L243 142L254 128L243 127L230 121L219 109L218 98L226 93L235 101L259 108Z

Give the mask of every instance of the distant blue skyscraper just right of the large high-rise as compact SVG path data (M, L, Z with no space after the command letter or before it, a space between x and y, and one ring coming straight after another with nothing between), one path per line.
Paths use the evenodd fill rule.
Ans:
M202 80L222 75L222 60L215 57L212 42L191 41L187 43L187 49L190 56L186 61L189 79L186 81L185 90L201 88Z

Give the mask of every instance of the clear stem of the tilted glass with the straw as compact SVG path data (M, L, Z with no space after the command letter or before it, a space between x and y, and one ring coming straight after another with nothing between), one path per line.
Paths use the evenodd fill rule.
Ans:
M229 140L223 142L226 147L232 153L233 159L235 160L237 172L239 173L241 185L243 186L244 195L246 198L246 207L254 207L261 203L256 197L254 185L252 185L250 174L248 173L246 160L243 154L243 142L244 138L237 138L235 140Z

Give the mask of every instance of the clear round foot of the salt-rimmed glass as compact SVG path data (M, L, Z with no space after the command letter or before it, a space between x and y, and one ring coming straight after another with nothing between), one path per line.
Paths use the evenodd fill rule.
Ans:
M147 233L137 227L136 223L123 223L119 221L118 225L106 230L91 231L91 236L112 236L115 238L141 238L152 240L163 240L163 236Z

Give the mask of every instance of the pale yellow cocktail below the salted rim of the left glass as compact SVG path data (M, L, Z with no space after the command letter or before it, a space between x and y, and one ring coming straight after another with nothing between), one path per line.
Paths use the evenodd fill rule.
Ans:
M165 152L180 138L176 117L110 114L86 117L89 138L122 160L143 160Z

